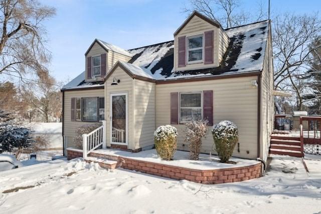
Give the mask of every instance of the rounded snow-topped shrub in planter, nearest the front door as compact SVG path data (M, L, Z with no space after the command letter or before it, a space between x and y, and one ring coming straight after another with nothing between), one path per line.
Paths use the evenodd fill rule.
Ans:
M177 129L174 126L159 126L154 132L157 154L165 160L172 160L177 149Z

